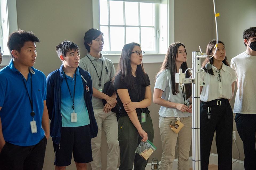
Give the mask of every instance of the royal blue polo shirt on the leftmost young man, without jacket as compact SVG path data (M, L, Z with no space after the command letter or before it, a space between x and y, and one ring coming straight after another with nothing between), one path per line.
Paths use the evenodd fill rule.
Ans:
M27 80L14 67L13 60L0 71L0 111L3 137L6 142L19 146L36 145L45 136L42 129L42 115L46 100L45 75L33 67L29 68ZM34 120L37 123L37 133L31 133L31 105L23 80L31 97L34 107ZM23 79L23 80L22 80Z

